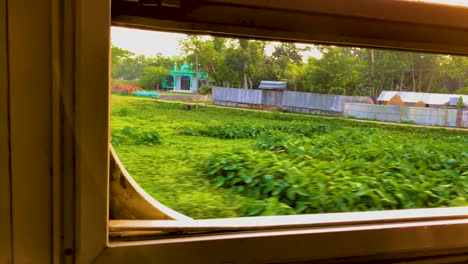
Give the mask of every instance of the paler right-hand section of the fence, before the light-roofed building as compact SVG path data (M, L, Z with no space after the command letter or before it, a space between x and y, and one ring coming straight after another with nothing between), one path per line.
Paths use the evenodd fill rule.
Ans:
M346 103L343 115L359 119L388 122L411 122L429 126L457 126L457 109L405 107L398 105L371 105ZM463 111L462 127L468 127L468 111Z

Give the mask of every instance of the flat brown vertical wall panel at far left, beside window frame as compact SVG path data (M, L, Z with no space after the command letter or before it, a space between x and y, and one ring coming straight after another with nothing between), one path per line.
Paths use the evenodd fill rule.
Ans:
M7 2L13 262L51 263L51 1Z

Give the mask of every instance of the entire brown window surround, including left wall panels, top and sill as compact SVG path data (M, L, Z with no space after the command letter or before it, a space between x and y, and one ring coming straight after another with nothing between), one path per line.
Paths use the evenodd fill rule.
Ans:
M0 0L0 55L6 54L0 56L0 107L8 105L7 110L0 111L0 162L8 164L0 166L0 176L3 173L9 176L0 177L0 193L6 197L0 199L0 228L4 223L7 226L6 233L0 233L0 246L6 245L7 261L13 258L15 262L26 262L30 256L36 262L83 264L300 263L319 259L372 261L427 257L432 263L468 260L466 207L330 214L327 216L331 218L327 219L317 219L320 215L256 218L250 227L243 223L249 219L182 224L133 222L123 225L126 231L206 228L216 232L110 240L111 3L39 2L40 5L23 8L20 2ZM468 55L468 21L463 19L468 17L466 8L401 0L355 0L353 4L349 0L320 0L313 4L291 0L287 9L283 8L284 0L204 2L208 8L215 9L194 9L188 19L181 20L122 14L112 17L112 24ZM401 10L395 12L396 9ZM219 14L232 11L234 15L210 17L206 15L209 10L218 10ZM303 23L309 19L311 24L314 21L331 24L322 25L320 32L315 32L312 27L275 24L265 16L240 17L244 12L263 11L285 20L301 17ZM5 36L3 29L7 27L12 30ZM34 30L38 31L33 35L36 39L30 36ZM444 37L434 39L436 34ZM24 41L35 42L44 53L31 52L26 58L23 52L28 51L28 46ZM14 49L8 49L8 45ZM24 68L21 63L27 62L44 66L26 67L33 74L31 80L21 79L18 72ZM31 95L25 91L32 89L21 90L33 85L36 79L34 88L44 94ZM44 119L45 125L37 120L32 125L23 120L21 107L28 107L28 103L37 106L33 116ZM26 132L30 132L22 131L22 127L37 129L33 137L37 140L31 140L30 146L20 144L21 140L28 139ZM42 152L44 149L46 153ZM30 167L22 167L21 158L30 158ZM35 184L35 188L27 183ZM34 208L29 206L31 201ZM3 217L8 211L10 218ZM343 221L336 222L337 218ZM31 219L35 225L31 225ZM112 226L117 228L118 224L114 222ZM8 227L12 228L8 230Z

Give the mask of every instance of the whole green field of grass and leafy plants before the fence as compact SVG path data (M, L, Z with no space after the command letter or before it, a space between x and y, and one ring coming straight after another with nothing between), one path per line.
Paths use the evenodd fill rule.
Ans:
M468 205L468 133L112 96L112 143L195 219Z

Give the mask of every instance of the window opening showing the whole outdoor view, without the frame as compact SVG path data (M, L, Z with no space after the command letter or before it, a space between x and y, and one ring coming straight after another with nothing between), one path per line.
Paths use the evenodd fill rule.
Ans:
M112 143L176 211L468 205L466 57L112 33Z

